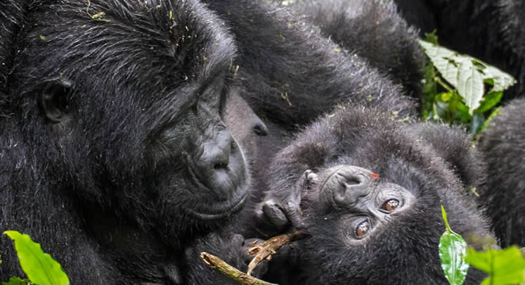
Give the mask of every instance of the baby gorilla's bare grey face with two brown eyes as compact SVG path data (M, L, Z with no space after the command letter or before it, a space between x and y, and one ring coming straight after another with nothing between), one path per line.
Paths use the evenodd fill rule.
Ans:
M380 176L362 167L337 165L317 175L305 172L303 208L318 204L322 213L339 213L344 241L349 246L365 243L368 236L410 209L413 194L398 184L381 182ZM318 201L318 203L312 203Z

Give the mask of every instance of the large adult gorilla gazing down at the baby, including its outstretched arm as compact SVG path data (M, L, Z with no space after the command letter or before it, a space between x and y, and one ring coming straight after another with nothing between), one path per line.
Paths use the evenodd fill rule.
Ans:
M196 0L0 5L0 229L30 234L73 283L186 283L186 246L247 196L221 118L231 77L284 127L340 101L415 114L401 87L266 1L209 4L238 61ZM6 240L1 279L22 274Z

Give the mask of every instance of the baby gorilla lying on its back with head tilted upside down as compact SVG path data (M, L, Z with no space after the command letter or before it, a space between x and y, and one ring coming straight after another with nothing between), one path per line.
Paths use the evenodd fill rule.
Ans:
M264 278L281 285L448 284L438 252L441 205L471 246L492 237L467 190L482 178L478 165L458 129L337 107L298 134L265 174L269 189L256 220L310 237L276 255ZM465 284L482 278L471 268Z

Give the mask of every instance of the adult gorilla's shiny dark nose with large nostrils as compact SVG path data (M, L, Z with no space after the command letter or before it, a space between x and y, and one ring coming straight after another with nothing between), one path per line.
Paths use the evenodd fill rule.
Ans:
M202 144L202 153L195 159L197 173L218 198L229 199L245 178L245 164L235 139L227 129L215 130Z

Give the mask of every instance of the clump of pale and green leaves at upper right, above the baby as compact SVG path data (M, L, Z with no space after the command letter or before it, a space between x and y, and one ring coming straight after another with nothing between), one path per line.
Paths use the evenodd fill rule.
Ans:
M439 46L433 33L420 45L430 59L424 69L424 118L465 124L477 134L516 80L477 58Z

